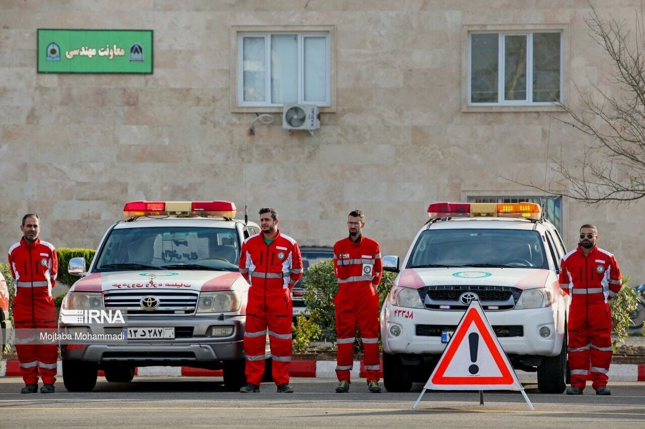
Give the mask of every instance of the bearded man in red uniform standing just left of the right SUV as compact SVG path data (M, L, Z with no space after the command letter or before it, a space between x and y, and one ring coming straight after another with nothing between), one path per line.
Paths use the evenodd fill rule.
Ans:
M381 393L379 387L379 294L381 282L381 247L362 235L365 216L354 210L348 216L348 238L333 245L333 267L338 281L338 293L333 298L336 307L336 375L337 393L350 390L350 370L353 368L353 345L358 324L363 343L363 365L367 370L368 389Z

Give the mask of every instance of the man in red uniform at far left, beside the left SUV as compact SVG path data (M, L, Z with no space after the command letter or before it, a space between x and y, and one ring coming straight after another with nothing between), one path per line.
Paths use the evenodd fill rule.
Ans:
M52 287L56 283L58 256L53 245L38 238L37 214L25 214L20 229L23 238L9 249L9 266L15 279L15 350L25 381L21 393L38 391L38 368L43 377L41 393L54 393L58 346L42 343L39 332L55 331L57 327Z

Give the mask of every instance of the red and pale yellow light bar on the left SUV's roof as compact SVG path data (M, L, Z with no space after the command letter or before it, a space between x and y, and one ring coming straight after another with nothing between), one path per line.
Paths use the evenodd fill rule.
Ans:
M230 201L132 201L123 207L126 218L135 216L222 216L234 218L235 203Z

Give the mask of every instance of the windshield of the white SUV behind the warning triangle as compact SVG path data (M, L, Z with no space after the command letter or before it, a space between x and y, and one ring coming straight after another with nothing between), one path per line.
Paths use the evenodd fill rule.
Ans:
M408 268L513 267L548 269L537 231L430 229L417 240Z

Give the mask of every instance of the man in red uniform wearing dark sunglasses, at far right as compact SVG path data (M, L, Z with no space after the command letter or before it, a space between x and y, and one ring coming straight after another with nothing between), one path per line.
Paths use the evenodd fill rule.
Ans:
M607 301L620 291L622 276L616 258L597 247L597 240L598 229L582 225L578 248L564 255L560 263L560 287L571 295L568 395L582 395L590 370L596 394L611 395L607 374L613 352Z

